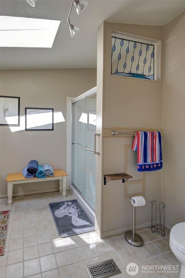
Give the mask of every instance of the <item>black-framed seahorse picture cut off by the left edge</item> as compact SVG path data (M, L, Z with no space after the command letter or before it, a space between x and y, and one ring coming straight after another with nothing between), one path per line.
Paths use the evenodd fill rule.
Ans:
M20 97L0 96L0 125L20 126Z

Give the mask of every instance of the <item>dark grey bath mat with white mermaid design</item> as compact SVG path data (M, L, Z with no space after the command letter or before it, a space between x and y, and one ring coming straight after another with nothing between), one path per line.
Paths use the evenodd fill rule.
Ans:
M60 237L69 237L95 230L95 224L77 200L49 203Z

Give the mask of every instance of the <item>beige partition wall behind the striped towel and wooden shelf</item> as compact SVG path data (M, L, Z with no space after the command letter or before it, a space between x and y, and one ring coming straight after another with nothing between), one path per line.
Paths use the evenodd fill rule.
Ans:
M104 29L102 25L105 25ZM162 82L135 78L110 76L110 29L163 39L162 26L146 26L119 23L102 23L99 27L103 55L97 63L97 98L103 98L103 129L123 127L161 129L162 127ZM102 39L101 39L102 40ZM104 58L104 62L103 62ZM101 70L98 68L101 67ZM103 86L98 87L103 76ZM102 131L101 131L102 132ZM98 169L102 190L101 236L129 231L132 228L132 204L124 199L122 180L103 184L103 174L124 172L124 145L130 145L133 137L104 137L102 144L103 169ZM97 158L98 159L98 158ZM100 158L99 158L100 159ZM136 161L135 161L136 164ZM137 166L136 166L137 167ZM128 173L133 175L132 173ZM134 176L134 175L133 175ZM98 182L98 181L97 181ZM99 186L99 185L98 185ZM100 189L98 189L100 191ZM136 208L136 227L145 227L151 221L151 201L161 200L161 171L146 173L146 206ZM146 224L147 223L147 224Z

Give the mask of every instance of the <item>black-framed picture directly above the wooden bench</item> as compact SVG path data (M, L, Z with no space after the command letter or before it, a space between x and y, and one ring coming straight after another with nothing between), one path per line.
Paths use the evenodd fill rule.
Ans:
M25 107L25 131L53 130L53 108Z

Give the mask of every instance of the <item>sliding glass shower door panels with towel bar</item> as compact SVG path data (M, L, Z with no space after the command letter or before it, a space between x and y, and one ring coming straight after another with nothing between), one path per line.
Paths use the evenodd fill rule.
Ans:
M96 93L72 104L72 130L72 184L95 208Z

